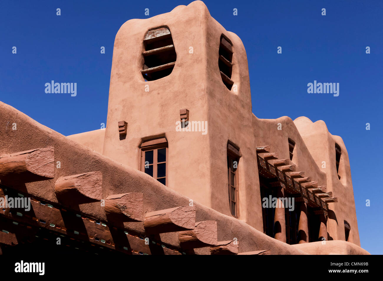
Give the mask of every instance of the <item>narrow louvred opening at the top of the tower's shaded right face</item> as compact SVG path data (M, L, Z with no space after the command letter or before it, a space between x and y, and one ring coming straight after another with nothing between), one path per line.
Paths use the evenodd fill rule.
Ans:
M222 82L231 90L234 82L231 80L231 72L233 65L231 60L233 58L233 47L229 39L221 35L218 51L218 67L221 73Z

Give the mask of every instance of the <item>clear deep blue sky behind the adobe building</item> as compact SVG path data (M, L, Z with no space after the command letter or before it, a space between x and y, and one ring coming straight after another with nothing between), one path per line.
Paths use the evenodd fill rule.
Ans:
M3 1L0 101L63 135L106 123L113 43L133 18L189 1ZM241 37L259 118L324 120L347 147L362 247L382 254L382 1L205 1ZM61 16L56 16L61 8ZM238 15L233 15L233 9ZM326 16L321 9L326 8ZM16 46L17 54L12 54ZM106 53L100 54L105 46ZM282 46L282 54L277 47ZM366 46L371 54L365 53ZM77 96L46 94L46 82L76 82ZM307 83L340 83L339 96ZM371 130L365 130L366 123ZM371 206L365 206L365 200Z

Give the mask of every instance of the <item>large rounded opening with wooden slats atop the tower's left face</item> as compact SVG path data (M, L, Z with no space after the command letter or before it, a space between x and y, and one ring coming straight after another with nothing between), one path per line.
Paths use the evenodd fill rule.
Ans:
M146 81L157 80L172 73L177 59L172 34L166 27L149 30L144 38L144 67Z

